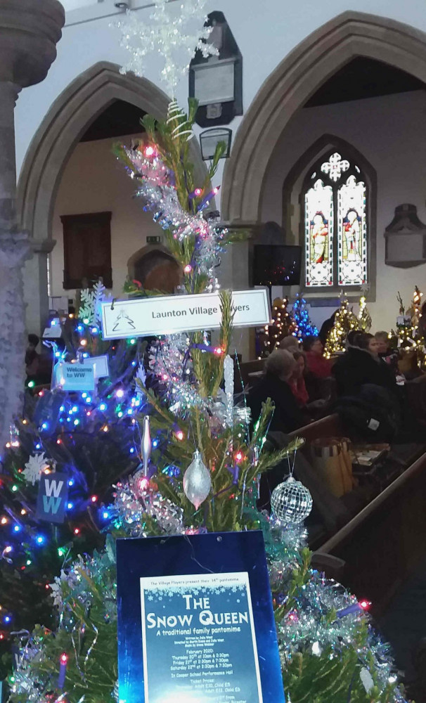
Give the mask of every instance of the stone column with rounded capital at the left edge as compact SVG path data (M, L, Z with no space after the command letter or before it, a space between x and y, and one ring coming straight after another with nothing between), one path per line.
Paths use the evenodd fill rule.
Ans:
M0 0L0 452L20 413L25 380L22 268L28 233L16 222L15 101L56 58L65 13L57 0Z

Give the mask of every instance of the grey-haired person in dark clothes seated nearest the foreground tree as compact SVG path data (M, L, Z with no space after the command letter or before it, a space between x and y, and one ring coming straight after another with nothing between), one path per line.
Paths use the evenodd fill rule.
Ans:
M262 403L267 398L275 403L275 411L270 430L293 432L305 425L304 415L292 394L290 382L295 372L296 362L290 352L275 349L265 363L265 374L247 396L247 405L252 411L252 422L262 411Z

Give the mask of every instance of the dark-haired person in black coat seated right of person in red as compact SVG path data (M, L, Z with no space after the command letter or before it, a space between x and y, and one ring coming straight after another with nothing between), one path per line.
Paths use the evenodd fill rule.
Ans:
M378 356L375 337L359 332L351 336L351 342L347 352L340 356L333 366L338 395L357 395L361 386L367 383L396 393L395 375Z

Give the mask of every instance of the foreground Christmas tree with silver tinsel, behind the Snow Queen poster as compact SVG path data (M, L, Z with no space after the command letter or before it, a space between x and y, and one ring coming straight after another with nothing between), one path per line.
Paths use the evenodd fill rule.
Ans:
M148 147L120 153L138 179L143 202L164 227L184 272L183 285L202 292L214 286L214 263L228 235L202 217L212 197L209 184L195 193L185 134L194 115L192 104L190 115L180 114L177 124L173 119L146 122L152 126ZM344 316L349 318L346 306L342 325ZM291 474L291 456L301 443L268 450L271 401L260 418L253 418L254 427L245 406L234 407L228 292L221 294L221 315L219 347L209 345L202 332L163 337L161 363L172 349L173 379L181 380L177 392L169 375L150 384L148 373L138 381L157 446L150 454L148 421L143 420L143 468L116 484L115 530L105 550L80 557L66 569L56 632L39 627L22 636L10 679L13 702L117 699L114 536L259 528L269 561L283 681L292 703L404 700L387 648L363 616L367 604L310 567L303 527L311 510L309 492L290 476L273 492L272 516L257 511L259 477L279 463ZM150 359L155 370L155 350Z

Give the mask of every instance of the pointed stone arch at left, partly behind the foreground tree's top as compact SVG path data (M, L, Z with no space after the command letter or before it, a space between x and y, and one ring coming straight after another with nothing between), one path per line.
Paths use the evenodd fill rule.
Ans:
M67 161L87 127L115 100L136 105L161 118L169 98L146 78L121 75L108 61L96 63L60 93L28 148L18 182L18 217L36 241L51 239L53 207ZM191 141L193 158L206 173L200 150Z

